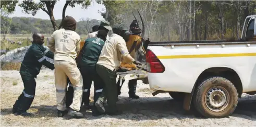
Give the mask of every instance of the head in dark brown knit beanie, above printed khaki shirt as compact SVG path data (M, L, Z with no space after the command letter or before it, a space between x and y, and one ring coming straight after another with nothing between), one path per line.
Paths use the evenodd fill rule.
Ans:
M66 16L62 21L62 26L65 30L75 31L77 27L77 22L73 17Z

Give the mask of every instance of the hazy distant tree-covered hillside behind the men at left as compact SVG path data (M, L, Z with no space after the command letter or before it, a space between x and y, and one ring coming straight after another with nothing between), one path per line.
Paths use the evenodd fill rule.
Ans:
M60 23L61 20L56 20L57 23ZM54 31L52 29L52 23L50 20L38 19L38 18L26 18L26 17L2 17L1 24L5 23L6 29L2 29L4 26L1 25L1 34L7 33L6 30L9 30L9 34L30 34L34 32L40 32L43 34L52 34ZM83 23L91 22L91 24ZM76 32L78 34L88 34L87 30L92 29L92 26L99 24L97 20L85 20L77 22ZM7 29L9 28L9 29Z

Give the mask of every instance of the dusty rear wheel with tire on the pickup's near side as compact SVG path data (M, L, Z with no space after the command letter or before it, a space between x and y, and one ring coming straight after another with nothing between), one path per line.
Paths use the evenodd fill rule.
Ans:
M211 77L197 87L193 104L204 117L223 118L231 115L238 103L233 83L223 77Z

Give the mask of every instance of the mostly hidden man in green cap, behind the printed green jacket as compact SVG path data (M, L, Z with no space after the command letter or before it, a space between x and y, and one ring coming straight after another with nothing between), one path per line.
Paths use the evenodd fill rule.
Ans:
M112 30L112 28L110 27L108 21L103 20L100 23L99 29L95 32L89 33L87 39L97 37L97 33L98 33L99 30L105 30L108 33L108 31ZM108 39L108 35L107 35L107 39Z

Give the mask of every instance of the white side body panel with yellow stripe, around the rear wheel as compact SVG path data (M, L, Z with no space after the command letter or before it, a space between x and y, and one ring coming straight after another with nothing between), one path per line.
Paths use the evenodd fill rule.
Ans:
M191 93L199 75L213 67L233 69L242 82L242 92L256 91L256 44L149 46L165 67L163 73L148 73L154 90Z

